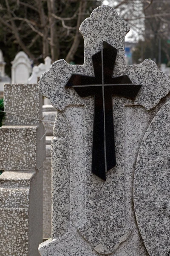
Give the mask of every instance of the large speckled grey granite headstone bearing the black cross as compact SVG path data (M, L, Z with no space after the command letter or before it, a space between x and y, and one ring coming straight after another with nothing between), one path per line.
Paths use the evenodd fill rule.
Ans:
M151 60L125 64L129 30L98 7L79 29L84 64L59 60L40 78L57 108L52 238L41 256L170 252L170 79Z

